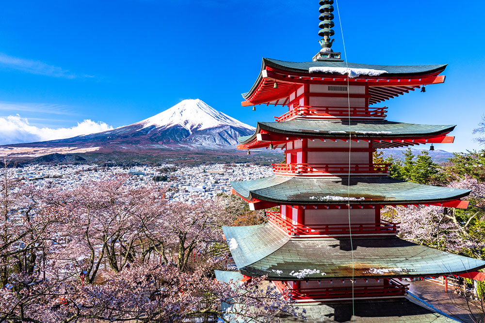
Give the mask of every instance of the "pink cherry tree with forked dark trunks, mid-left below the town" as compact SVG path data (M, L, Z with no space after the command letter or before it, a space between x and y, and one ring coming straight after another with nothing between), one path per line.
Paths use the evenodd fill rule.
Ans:
M132 188L128 177L90 182L70 191L51 192L50 200L63 221L58 222L56 255L71 262L93 283L107 262L120 272L143 249L147 218L160 218L166 200L156 186Z

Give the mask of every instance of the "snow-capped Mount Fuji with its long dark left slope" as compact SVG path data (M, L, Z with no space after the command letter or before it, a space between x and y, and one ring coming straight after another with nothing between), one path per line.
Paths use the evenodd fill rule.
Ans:
M67 151L74 147L88 151L235 149L237 137L253 134L254 131L254 127L217 111L202 100L189 99L153 117L113 130L66 139L5 145L0 150L5 152L18 147L62 147ZM52 149L48 151L53 152ZM14 151L12 153L16 154Z

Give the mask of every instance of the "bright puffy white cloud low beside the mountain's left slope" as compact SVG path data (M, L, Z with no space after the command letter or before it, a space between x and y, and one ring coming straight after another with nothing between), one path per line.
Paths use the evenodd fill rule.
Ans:
M8 116L0 118L0 145L71 138L111 129L111 125L89 119L70 128L39 128L19 115Z

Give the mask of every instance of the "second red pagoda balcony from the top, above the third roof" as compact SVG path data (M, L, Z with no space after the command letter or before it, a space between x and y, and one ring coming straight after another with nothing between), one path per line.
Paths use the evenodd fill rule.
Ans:
M334 176L351 174L388 175L390 164L272 164L273 171L283 175Z

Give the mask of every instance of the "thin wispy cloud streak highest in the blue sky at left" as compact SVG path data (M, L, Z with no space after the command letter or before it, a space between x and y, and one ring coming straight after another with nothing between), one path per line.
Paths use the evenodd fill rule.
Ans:
M59 66L54 66L44 62L14 57L4 53L0 53L0 65L6 68L23 71L30 74L45 75L49 77L63 77L63 78L71 78L71 79L76 77L92 77L89 75L77 75Z

